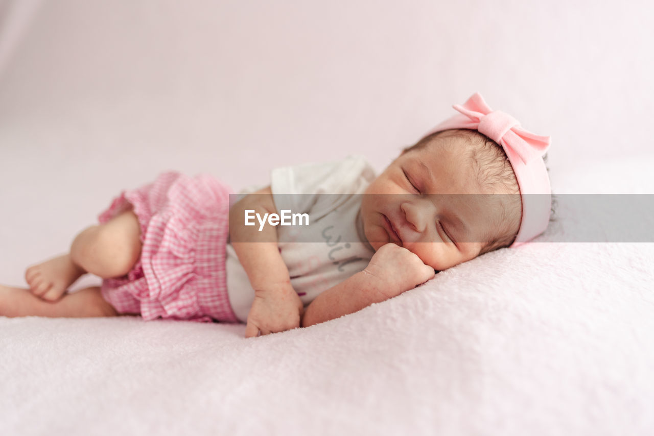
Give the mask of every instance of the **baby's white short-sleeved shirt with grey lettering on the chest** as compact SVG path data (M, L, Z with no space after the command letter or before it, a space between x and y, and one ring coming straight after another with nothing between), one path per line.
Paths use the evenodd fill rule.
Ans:
M362 194L374 178L375 171L361 156L271 171L277 213L286 209L309 214L309 226L276 227L290 283L305 307L324 290L366 268L375 254L358 220ZM239 199L261 188L247 188L239 192ZM236 317L247 322L254 290L231 243L226 250L230 304Z

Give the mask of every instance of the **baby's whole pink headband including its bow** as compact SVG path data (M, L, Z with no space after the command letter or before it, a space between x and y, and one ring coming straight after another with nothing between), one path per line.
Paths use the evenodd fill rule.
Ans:
M461 113L443 121L424 137L441 130L471 129L500 144L513 167L523 203L520 229L511 246L524 244L543 233L549 223L552 205L549 177L542 158L549 147L550 137L534 135L520 127L518 120L511 115L490 109L478 92L463 105L453 105L453 108Z

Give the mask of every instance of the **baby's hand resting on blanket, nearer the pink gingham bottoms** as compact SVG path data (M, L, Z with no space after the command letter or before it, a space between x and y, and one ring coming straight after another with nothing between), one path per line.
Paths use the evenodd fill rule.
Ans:
M300 327L304 305L290 282L255 290L254 301L247 316L245 337L277 333Z

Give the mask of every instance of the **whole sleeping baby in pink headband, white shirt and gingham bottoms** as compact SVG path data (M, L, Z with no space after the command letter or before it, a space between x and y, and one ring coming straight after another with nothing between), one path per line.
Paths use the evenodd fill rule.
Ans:
M364 158L271 171L230 195L207 175L126 190L69 253L0 286L0 316L243 322L254 337L385 301L547 228L549 137L479 93L380 175ZM67 292L92 273L101 286Z

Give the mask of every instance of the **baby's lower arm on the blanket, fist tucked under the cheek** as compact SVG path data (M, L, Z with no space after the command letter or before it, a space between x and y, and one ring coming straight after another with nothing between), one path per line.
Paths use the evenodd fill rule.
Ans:
M333 320L400 295L434 277L434 268L406 248L385 244L364 271L320 293L307 307L302 327Z

